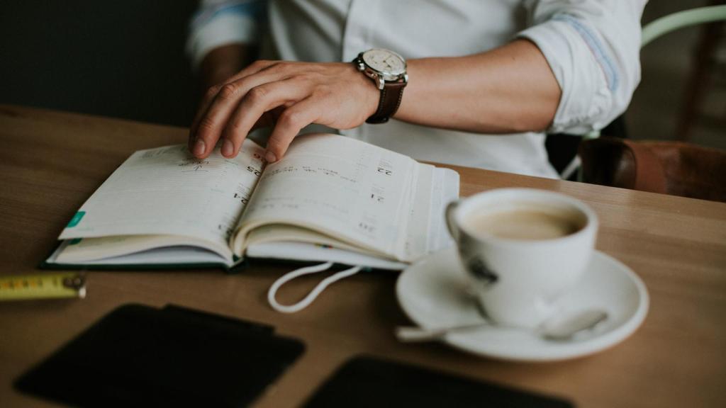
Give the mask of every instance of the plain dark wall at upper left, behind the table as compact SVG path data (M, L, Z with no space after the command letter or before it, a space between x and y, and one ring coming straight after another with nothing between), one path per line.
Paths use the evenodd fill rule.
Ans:
M4 1L0 103L187 126L195 0Z

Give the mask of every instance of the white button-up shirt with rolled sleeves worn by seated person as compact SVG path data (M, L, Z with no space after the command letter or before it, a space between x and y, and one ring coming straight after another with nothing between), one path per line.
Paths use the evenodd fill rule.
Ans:
M584 134L620 115L640 81L645 2L203 0L187 47L195 65L211 49L231 43L259 44L264 59L331 62L352 61L376 47L407 59L456 57L527 38L542 51L562 89L548 131ZM542 133L473 134L395 120L339 133L418 160L557 176Z

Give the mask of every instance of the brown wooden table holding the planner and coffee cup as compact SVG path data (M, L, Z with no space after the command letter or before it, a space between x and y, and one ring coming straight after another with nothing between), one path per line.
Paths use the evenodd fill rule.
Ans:
M0 106L0 274L38 272L57 235L127 156L185 142L187 130L86 115ZM564 192L600 217L597 248L643 278L650 312L632 337L600 354L523 364L473 357L443 344L404 345L407 318L394 273L336 283L309 309L272 311L265 295L285 267L242 274L90 272L84 300L0 303L0 407L45 407L12 380L123 303L176 303L267 322L301 338L306 352L258 407L293 407L346 359L367 353L571 399L579 407L726 407L726 204L568 181L456 168L461 193L494 187ZM293 301L316 277L280 293Z

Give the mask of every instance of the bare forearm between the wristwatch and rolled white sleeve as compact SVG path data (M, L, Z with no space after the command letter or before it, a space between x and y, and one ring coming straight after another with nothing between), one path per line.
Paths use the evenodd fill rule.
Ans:
M526 40L466 57L409 60L409 84L394 116L476 133L542 131L555 117L560 86Z

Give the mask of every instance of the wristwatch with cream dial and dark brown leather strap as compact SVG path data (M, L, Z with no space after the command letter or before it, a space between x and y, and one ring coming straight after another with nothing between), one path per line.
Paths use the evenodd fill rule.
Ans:
M358 54L353 63L380 89L378 109L366 122L388 122L388 118L399 110L408 83L406 60L391 50L374 48Z

